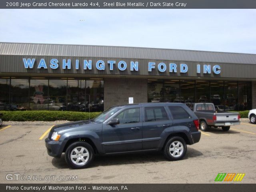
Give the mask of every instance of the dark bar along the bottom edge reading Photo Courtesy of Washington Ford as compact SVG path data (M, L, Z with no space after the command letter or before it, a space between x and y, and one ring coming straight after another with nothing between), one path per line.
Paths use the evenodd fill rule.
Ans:
M0 184L1 192L255 192L255 188L256 184Z

